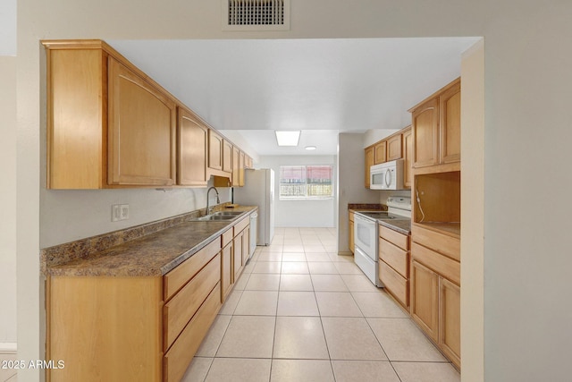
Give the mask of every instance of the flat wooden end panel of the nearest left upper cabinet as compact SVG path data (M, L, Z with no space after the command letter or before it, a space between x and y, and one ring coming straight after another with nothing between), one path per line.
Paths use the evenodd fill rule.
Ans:
M99 49L46 49L47 188L106 185L103 57Z

